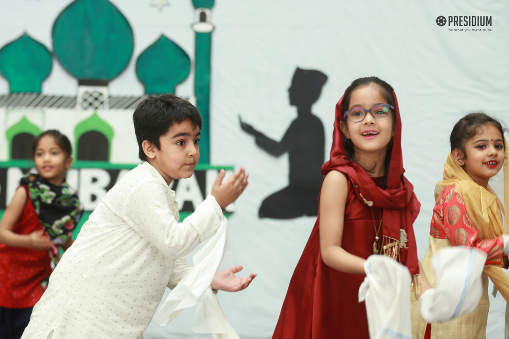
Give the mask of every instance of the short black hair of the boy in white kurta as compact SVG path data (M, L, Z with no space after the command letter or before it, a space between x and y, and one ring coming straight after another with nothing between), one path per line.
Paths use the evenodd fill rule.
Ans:
M168 133L174 124L180 124L187 119L191 121L193 128L198 126L202 129L202 116L196 107L173 94L149 96L140 102L132 115L139 159L147 160L142 147L144 140L148 140L160 150L159 138Z

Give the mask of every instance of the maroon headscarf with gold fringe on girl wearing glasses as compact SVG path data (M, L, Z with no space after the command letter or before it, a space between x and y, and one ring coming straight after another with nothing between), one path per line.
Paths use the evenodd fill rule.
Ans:
M403 156L401 151L401 118L396 94L392 91L395 102L396 124L390 155L390 168L385 190L376 185L373 179L359 164L348 159L343 144L343 133L340 123L344 112L341 110L343 96L336 104L334 120L334 134L332 136L332 149L330 160L322 166L322 174L331 170L344 173L353 183L357 199L366 203L373 202L374 207L383 208L382 234L385 237L400 240L401 230L406 232L407 247L401 247L400 261L406 265L413 276L419 273L417 261L417 245L413 232L413 222L419 214L420 203L413 192L412 184L403 176Z

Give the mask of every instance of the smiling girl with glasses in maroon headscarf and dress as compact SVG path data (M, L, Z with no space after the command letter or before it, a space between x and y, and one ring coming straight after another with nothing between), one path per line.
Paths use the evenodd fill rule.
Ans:
M420 203L403 172L401 119L392 87L377 77L353 81L336 105L318 219L273 339L369 338L358 293L364 262L372 254L406 265L418 285L412 224Z

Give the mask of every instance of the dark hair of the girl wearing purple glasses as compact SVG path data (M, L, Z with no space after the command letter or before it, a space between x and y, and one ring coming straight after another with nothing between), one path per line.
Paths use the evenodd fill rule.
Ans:
M340 109L341 112L344 113L348 111L348 107L350 105L350 97L352 96L352 92L363 86L367 86L370 84L378 85L378 88L380 89L380 93L382 94L382 97L385 99L385 101L392 105L392 107L396 107L396 100L394 99L393 94L393 88L391 85L389 85L387 82L383 81L382 79L379 79L377 77L365 77L365 78L359 78L354 80L350 86L348 86L347 90L345 91L345 95L343 97L343 102L341 103ZM392 128L396 125L396 113L394 110L391 110L392 112ZM343 118L343 122L347 124L348 117ZM351 161L355 161L354 159L354 145L352 143L352 140L348 139L345 134L343 134L343 145L345 146L345 151L347 153L348 159ZM387 179L389 177L389 168L390 168L390 156L392 154L392 139L389 141L389 144L387 146L387 154L385 155L385 164L384 164L384 177L382 180L382 183L380 187L385 190L387 187ZM375 165L376 166L376 165ZM367 172L371 172L373 169L366 169Z

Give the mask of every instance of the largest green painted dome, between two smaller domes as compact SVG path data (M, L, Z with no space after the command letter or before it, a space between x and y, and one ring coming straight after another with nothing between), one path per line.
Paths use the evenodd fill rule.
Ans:
M114 79L134 49L131 26L107 0L71 3L56 18L52 34L56 58L77 79Z

